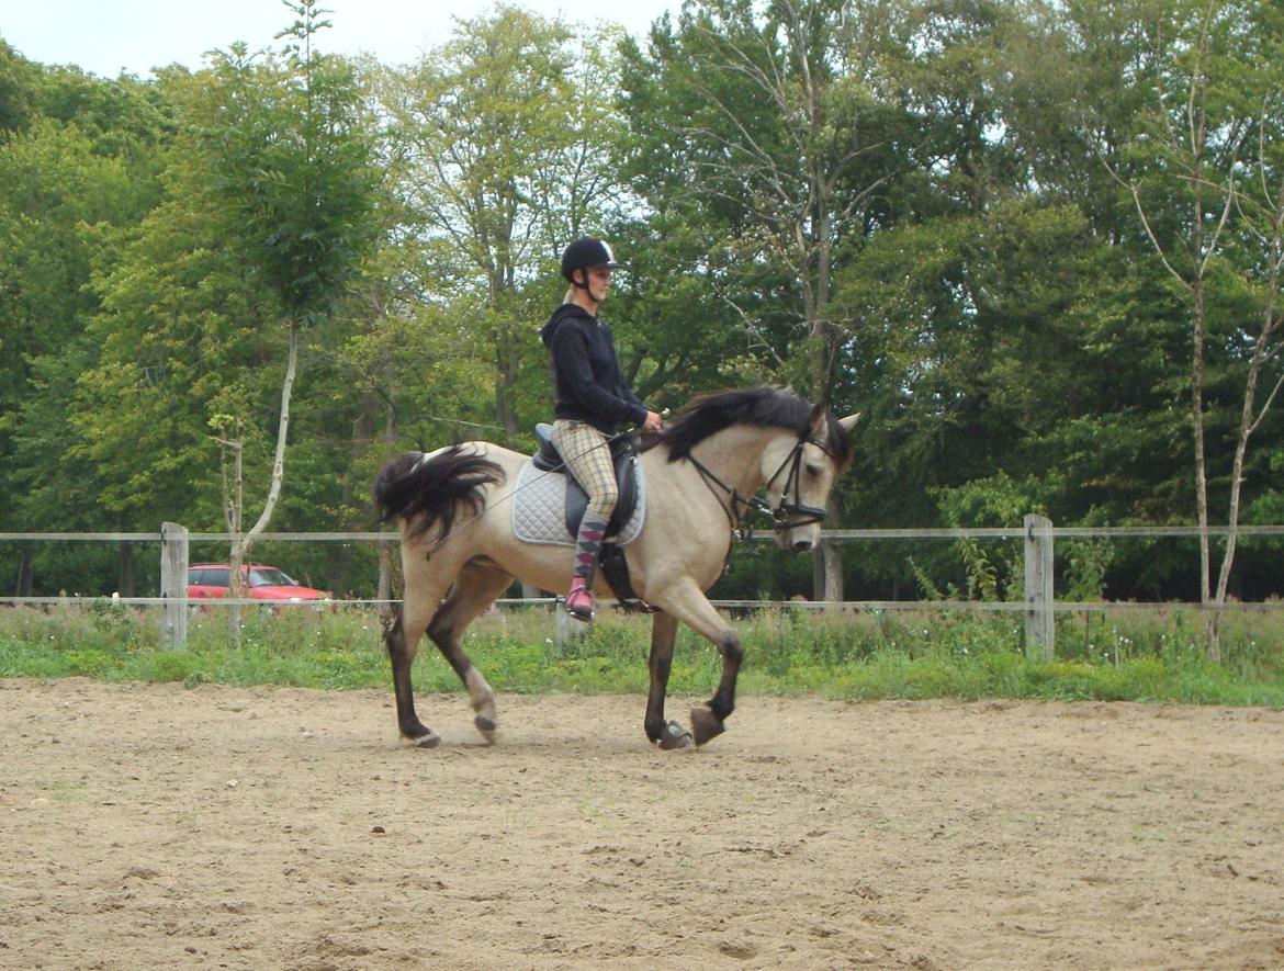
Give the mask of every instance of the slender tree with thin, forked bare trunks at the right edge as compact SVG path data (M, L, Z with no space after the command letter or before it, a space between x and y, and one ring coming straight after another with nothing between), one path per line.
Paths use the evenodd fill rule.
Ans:
M1139 74L1157 98L1139 118L1136 136L1118 164L1103 159L1127 190L1147 239L1189 319L1189 411L1194 448L1195 514L1199 525L1199 596L1213 606L1210 650L1220 660L1220 608L1225 602L1235 556L1244 460L1249 438L1274 401L1258 411L1256 387L1262 369L1278 354L1274 346L1274 294L1278 268L1270 256L1272 226L1271 172L1278 154L1280 74L1278 64L1284 22L1272 4L1198 0L1168 5L1166 15L1139 23L1148 40ZM1258 113L1260 112L1260 113ZM1245 197L1240 182L1252 136L1260 140L1263 197ZM1263 218L1249 220L1249 235L1267 243L1266 258L1244 261L1235 252L1236 214L1242 203ZM1238 277L1238 279L1236 279ZM1245 333L1233 310L1234 290L1257 283L1265 311L1257 334ZM1240 346L1251 348L1247 369L1239 366ZM1228 356L1229 354L1229 356ZM1210 488L1215 456L1210 456L1210 390L1215 366L1228 365L1242 390L1240 417L1231 459L1225 511L1230 538L1222 550L1216 587L1212 583Z

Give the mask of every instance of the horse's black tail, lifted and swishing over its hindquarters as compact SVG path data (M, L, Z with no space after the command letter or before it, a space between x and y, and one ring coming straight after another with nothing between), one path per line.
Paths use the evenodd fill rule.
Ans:
M503 469L475 447L451 446L431 459L422 452L406 452L375 477L375 512L383 523L397 516L411 523L411 537L422 536L440 523L435 548L451 532L456 512L466 509L479 514L485 505L482 487L503 480Z

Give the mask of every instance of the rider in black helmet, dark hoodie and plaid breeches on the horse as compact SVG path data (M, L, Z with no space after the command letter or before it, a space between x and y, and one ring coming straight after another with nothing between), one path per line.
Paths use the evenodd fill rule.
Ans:
M643 405L625 383L611 329L597 316L615 266L611 248L593 236L566 247L561 271L570 288L539 331L550 351L552 371L553 446L588 493L566 595L566 611L579 620L593 619L593 574L619 498L607 439L624 421L646 432L659 432L661 426L660 415Z

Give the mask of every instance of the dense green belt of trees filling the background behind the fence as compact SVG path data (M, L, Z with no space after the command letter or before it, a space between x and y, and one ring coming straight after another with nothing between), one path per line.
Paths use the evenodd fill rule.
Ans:
M289 6L277 49L150 81L0 41L0 528L220 530L220 441L259 496L289 456L273 525L367 528L389 452L532 443L584 232L647 401L864 412L845 525L1280 521L1278 4L691 0L642 40L498 4L404 66ZM1260 543L1166 550L1067 581L1281 592ZM290 565L361 591L361 555ZM37 588L121 569L40 556ZM880 547L847 591L967 563Z

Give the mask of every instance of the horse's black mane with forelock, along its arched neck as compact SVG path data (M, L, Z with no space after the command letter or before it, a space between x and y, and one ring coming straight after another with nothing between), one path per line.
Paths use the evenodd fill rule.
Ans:
M659 435L668 446L669 461L686 459L691 450L715 432L738 424L787 428L799 437L811 424L811 403L792 392L764 385L740 390L720 390L692 399L678 419ZM840 466L851 459L851 439L833 415L827 412L828 434L824 446Z

